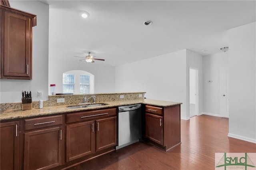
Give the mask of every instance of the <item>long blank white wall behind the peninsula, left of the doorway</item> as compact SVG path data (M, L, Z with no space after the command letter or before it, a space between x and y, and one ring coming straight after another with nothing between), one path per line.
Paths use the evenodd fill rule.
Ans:
M186 119L186 49L116 67L116 92L124 91L182 102L181 117Z

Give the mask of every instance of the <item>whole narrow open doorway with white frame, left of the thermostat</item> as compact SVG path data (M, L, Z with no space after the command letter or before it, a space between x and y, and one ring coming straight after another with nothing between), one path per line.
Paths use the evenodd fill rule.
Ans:
M189 69L189 116L198 115L198 70L194 68Z

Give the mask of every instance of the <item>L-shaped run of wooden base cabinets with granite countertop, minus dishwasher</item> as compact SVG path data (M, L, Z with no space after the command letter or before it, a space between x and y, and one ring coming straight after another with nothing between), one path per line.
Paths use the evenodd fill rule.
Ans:
M108 95L119 97L120 94ZM64 103L65 105L55 105L55 103L43 109L35 107L26 111L21 109L2 111L1 136L10 138L9 141L12 143L1 140L1 152L11 152L16 157L13 159L1 157L1 162L5 162L1 164L1 169L13 164L13 169L58 170L114 151L118 142L117 108L124 105L142 104L144 140L165 151L180 144L180 104L182 103L143 99L144 92L122 94L124 100L112 101L102 99L104 97L98 94L96 102L106 105L95 107L69 109L67 106L75 103ZM143 97L138 97L141 96L139 94L143 94ZM69 97L83 96L49 96L49 101L55 100L56 97L64 97L70 102L72 99L68 101ZM80 99L75 102L77 105Z

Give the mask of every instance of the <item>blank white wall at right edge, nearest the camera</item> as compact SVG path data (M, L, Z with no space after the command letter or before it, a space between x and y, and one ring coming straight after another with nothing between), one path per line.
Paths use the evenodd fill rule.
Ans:
M229 30L228 136L256 143L256 23Z

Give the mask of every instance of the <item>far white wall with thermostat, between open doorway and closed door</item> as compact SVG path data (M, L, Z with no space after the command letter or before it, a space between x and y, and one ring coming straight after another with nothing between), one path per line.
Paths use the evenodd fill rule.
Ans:
M226 51L203 57L203 112L207 115L220 116L220 68L228 67L228 54Z

